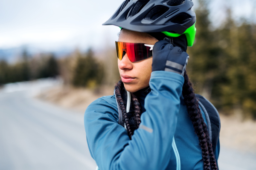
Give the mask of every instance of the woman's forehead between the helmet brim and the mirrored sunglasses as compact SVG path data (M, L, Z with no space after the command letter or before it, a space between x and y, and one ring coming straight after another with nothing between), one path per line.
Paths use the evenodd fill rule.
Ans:
M119 34L118 41L119 42L154 44L158 40L145 32L136 32L136 31L122 29Z

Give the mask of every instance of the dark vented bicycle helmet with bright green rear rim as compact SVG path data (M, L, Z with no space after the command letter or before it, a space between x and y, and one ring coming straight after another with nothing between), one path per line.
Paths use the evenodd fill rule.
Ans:
M195 40L195 12L191 0L125 0L102 25L137 32L163 32L169 37L185 34L188 46Z

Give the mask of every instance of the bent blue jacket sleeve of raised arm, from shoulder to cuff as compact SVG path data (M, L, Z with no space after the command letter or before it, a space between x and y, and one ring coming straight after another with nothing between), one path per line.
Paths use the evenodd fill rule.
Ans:
M163 170L169 163L184 78L167 71L151 73L140 127L130 140L118 124L117 109L97 99L85 111L90 153L99 170Z

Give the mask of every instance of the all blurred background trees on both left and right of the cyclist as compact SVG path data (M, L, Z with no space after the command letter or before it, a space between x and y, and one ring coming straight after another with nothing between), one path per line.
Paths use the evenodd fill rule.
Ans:
M213 29L207 1L199 0L197 34L187 67L198 94L209 99L225 115L256 119L256 24L252 18L233 20L227 9L226 21ZM29 56L10 64L0 61L0 85L44 77L61 77L70 88L99 92L119 80L115 49L85 52L56 58L54 54Z

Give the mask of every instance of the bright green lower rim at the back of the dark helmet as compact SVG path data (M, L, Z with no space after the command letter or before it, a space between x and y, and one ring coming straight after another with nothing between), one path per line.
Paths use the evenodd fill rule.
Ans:
M195 41L195 32L196 32L196 28L195 28L195 23L186 29L186 31L183 33L186 35L187 38L187 42L188 42L188 46L192 47L194 41ZM168 37L179 37L181 34L178 33L171 33L168 31L163 31L163 34L166 34Z

